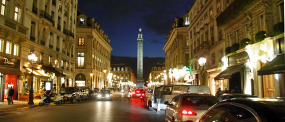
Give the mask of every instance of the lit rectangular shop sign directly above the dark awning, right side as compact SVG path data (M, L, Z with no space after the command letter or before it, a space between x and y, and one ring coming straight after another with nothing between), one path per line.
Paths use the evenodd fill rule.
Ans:
M236 53L234 55L231 55L228 57L228 65L235 65L238 63L243 63L245 62L248 58L248 54L246 51L242 51L239 53Z

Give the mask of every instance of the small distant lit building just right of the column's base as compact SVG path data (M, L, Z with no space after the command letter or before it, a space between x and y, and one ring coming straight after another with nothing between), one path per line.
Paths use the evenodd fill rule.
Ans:
M161 84L166 84L166 78L167 75L165 70L165 63L157 63L156 65L152 66L147 83L159 82Z

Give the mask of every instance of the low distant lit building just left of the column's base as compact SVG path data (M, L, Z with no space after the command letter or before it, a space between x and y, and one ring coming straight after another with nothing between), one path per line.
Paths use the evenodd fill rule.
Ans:
M135 76L132 69L125 64L111 64L109 84L111 87L134 87Z

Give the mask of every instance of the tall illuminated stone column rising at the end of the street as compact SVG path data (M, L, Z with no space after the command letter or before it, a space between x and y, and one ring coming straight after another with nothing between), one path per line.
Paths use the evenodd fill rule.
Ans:
M139 33L137 35L137 77L136 77L136 87L143 87L144 86L144 80L143 80L143 66L142 66L142 61L143 61L143 56L142 56L142 33L141 33L141 28L139 28Z

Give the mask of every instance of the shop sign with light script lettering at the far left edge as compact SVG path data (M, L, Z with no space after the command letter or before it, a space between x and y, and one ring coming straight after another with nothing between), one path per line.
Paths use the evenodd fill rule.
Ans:
M20 67L20 60L0 56L0 66L11 67L11 68L19 68Z

